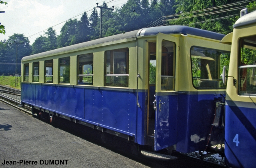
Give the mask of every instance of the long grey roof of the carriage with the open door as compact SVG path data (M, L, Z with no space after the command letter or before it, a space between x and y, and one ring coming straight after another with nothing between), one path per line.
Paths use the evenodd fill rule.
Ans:
M72 46L66 46L66 47L63 47L63 48L58 48L58 49L55 49L55 50L50 50L50 51L46 51L46 52L26 56L26 57L23 57L21 61L26 61L26 60L30 60L32 58L38 58L38 57L46 56L46 55L50 55L50 54L57 54L57 53L60 53L60 52L66 52L66 51L69 51L69 50L83 48L83 47L86 47L86 46L93 46L93 45L96 45L96 44L102 44L102 43L106 43L106 42L110 42L110 41L116 41L116 40L138 37L138 36L156 35L158 33L184 34L184 35L191 34L191 35L201 36L201 37L205 37L205 38L211 38L211 39L215 39L215 40L222 40L222 38L225 36L224 34L219 34L219 33L210 32L210 31L202 30L202 29L198 29L198 28L192 28L192 27L188 27L188 26L173 25L173 26L142 28L140 30L134 30L134 31L131 31L131 32L126 32L126 33L117 34L117 35L114 35L114 36L99 38L99 39L88 41L88 42L74 44Z

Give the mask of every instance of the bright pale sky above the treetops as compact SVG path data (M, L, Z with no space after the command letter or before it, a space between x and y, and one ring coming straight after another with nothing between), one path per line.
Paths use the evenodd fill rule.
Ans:
M86 11L88 17L93 7L102 5L104 0L2 0L7 5L0 4L0 23L5 26L6 33L0 34L1 40L8 40L14 33L28 37L30 45L40 35L53 26L57 35L70 18L80 20ZM105 0L108 7L121 7L128 0ZM114 8L115 9L115 8ZM97 8L98 13L100 9ZM115 11L115 10L114 10ZM79 15L79 16L78 16Z

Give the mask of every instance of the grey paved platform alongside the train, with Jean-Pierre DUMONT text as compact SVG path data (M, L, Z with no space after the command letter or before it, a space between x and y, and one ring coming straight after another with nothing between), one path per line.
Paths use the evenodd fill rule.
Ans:
M0 167L53 166L147 167L0 102Z

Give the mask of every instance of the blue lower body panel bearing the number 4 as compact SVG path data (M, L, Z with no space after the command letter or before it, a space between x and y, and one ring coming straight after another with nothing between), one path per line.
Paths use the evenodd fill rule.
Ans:
M256 108L226 105L225 160L230 167L256 166Z

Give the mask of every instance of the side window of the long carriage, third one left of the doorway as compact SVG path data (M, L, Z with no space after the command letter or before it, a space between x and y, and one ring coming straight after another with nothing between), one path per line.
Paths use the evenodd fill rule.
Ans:
M59 81L70 83L70 57L59 59Z

